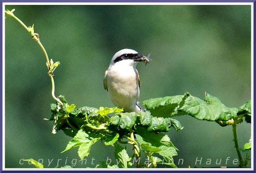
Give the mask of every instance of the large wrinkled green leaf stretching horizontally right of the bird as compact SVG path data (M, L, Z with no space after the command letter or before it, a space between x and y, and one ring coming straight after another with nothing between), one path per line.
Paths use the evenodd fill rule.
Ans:
M191 96L188 92L182 95L154 98L143 102L143 105L155 116L172 117L190 115L197 119L217 121L229 120L237 116L237 108L228 108L219 98L208 93L205 100Z

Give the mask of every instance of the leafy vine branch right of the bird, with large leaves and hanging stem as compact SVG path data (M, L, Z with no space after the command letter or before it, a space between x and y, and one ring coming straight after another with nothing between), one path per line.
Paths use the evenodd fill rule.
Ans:
M248 162L243 160L238 145L237 125L243 119L248 123L251 122L251 101L248 101L239 109L228 108L221 103L219 98L208 93L205 93L204 100L201 100L186 92L184 95L152 98L144 101L143 105L154 115L163 117L190 115L200 120L215 121L222 127L232 125L234 147L238 154L240 167L247 166Z

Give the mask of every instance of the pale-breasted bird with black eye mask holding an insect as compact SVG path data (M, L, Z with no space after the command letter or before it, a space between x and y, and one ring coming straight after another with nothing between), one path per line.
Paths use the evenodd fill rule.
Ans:
M124 112L143 111L139 106L140 76L138 62L149 63L147 57L129 48L118 51L105 71L103 85L111 101Z

